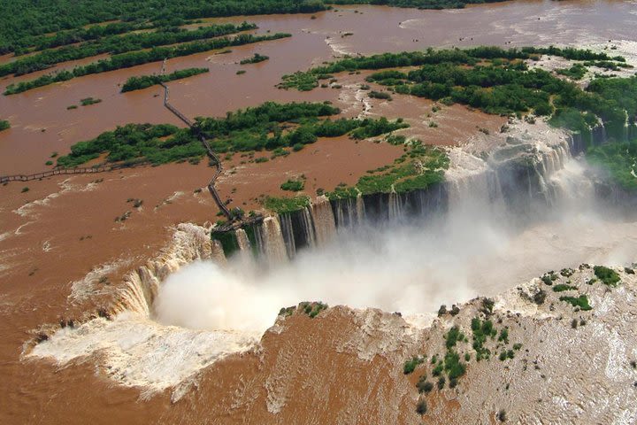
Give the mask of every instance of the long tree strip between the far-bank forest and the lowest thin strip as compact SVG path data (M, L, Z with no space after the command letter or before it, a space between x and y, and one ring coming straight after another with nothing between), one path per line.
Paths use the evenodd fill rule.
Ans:
M20 58L0 66L0 77L14 73L23 75L50 68L60 62L90 58L103 53L111 55L126 53L134 50L150 49L180 42L192 42L220 35L231 35L249 29L255 29L255 24L243 22L239 26L233 24L212 25L196 30L187 31L182 28L129 35L113 35L96 42L85 42L77 46L66 46L57 50L46 50L27 58Z

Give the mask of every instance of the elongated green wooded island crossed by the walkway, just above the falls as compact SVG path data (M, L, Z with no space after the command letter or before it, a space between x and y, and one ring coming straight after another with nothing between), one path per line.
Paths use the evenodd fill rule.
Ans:
M197 132L203 131L216 152L295 151L319 137L349 134L352 138L382 135L407 127L401 120L330 120L340 113L330 104L276 104L228 112L225 118L198 118L196 128L127 124L95 139L75 143L71 153L58 158L58 166L73 167L105 155L107 162L153 165L188 160L198 163L206 153Z

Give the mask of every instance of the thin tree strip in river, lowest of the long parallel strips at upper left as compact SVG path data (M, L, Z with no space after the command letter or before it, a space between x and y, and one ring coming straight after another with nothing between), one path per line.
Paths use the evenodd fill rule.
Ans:
M42 75L30 81L20 81L18 84L10 84L4 91L4 95L14 95L24 91L47 86L59 81L68 81L75 77L81 77L92 73L105 73L115 69L129 68L150 62L157 62L165 58L177 58L180 56L188 56L194 53L200 53L208 50L223 49L230 46L240 46L252 42L265 42L269 40L278 40L280 38L289 37L289 34L274 35L249 35L242 34L233 38L218 38L203 42L188 42L179 44L174 47L160 47L144 51L132 51L121 55L115 55L112 58L102 59L96 63L86 66L76 66L71 71L60 71L59 73Z

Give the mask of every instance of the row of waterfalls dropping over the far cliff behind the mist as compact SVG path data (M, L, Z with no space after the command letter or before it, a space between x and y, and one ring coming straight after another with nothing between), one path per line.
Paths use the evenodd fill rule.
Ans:
M574 163L572 154L584 149L581 135L569 135L543 122L519 123L518 126L517 133L504 135L504 143L487 158L472 155L464 148L451 149L451 166L446 182L441 185L406 194L395 191L369 196L359 194L356 198L332 201L319 197L300 212L282 214L280 235L271 235L270 239L276 243L284 241L287 257L291 259L299 249L324 245L338 229L362 224L380 226L405 219L423 220L433 213L466 207L467 203L472 203L474 208L489 208L494 213L506 210L520 216L537 215L542 209L559 204L561 198L575 196L572 190L581 193L591 188L590 182L579 182L580 174L563 172L565 168L577 168L569 165ZM605 129L597 126L593 131L601 143ZM561 178L554 178L556 174ZM271 221L266 233L276 231ZM264 240L261 251L270 250L266 245ZM280 251L280 247L276 250Z

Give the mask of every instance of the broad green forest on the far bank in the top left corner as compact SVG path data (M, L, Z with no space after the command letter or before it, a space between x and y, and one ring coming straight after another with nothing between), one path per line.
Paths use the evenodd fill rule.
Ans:
M326 9L321 0L0 0L0 53L35 43L33 36L121 20L181 25L186 19ZM26 41L26 42L25 42Z

